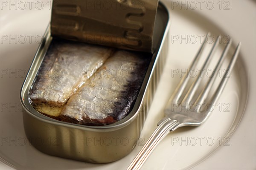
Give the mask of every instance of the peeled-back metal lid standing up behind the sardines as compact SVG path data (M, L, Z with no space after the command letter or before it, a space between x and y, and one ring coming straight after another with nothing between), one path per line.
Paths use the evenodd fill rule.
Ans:
M158 0L53 0L51 34L153 52L157 5Z

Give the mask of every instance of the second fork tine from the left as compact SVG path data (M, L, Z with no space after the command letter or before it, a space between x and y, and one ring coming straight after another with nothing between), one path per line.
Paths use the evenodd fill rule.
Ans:
M210 60L213 56L213 52L217 48L217 43L218 43L220 37L221 37L220 35L217 37L217 40L215 41L214 45L212 46L212 49L211 49L206 61L204 62L201 75L204 73L204 70L207 67L207 65L209 65L209 62L210 62ZM188 104L191 103L192 97L195 95L195 91L196 91L196 89L198 89L198 85L200 84L200 81L201 81L201 78L202 78L201 75L198 75L196 77L195 82L192 83L192 85L189 88L189 91L187 92L186 96L184 97L182 103L188 103Z

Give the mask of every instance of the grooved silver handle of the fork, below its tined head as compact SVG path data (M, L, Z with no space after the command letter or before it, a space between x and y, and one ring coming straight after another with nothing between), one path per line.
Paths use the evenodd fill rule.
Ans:
M152 153L157 144L175 127L179 125L179 122L169 117L165 117L157 124L158 127L154 130L148 141L143 148L131 162L127 170L139 170L144 162L148 159L148 156Z

